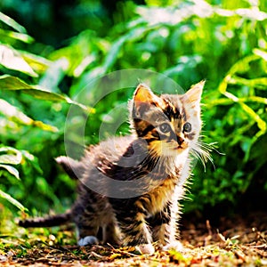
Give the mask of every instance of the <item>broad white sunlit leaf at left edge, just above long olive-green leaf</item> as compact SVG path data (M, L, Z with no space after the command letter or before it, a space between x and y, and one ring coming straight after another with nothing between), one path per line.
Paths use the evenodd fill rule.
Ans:
M14 69L28 76L38 77L18 51L4 44L0 44L0 64L6 69Z

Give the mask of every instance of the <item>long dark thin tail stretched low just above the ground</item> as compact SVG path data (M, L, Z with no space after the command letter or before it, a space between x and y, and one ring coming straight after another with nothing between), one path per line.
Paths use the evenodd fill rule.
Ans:
M24 228L29 227L52 227L61 224L66 224L71 222L71 211L67 211L65 214L55 214L52 216L47 216L43 218L32 218L19 221L19 225Z

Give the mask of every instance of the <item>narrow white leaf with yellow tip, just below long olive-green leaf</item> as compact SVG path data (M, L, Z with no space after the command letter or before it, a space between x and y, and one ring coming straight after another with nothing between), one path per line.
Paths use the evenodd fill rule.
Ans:
M4 114L4 117L8 118L9 120L20 123L20 125L33 125L43 129L44 131L50 132L59 131L59 129L57 127L54 127L53 125L46 125L41 121L33 120L3 99L0 99L0 113Z

